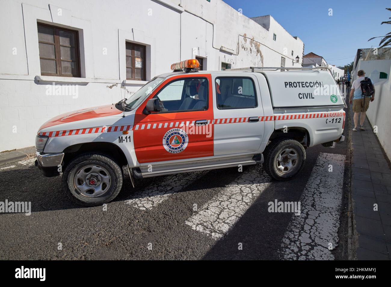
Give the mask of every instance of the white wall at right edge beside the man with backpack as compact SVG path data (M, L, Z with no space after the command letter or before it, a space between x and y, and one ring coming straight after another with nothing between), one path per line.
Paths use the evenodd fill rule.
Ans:
M383 60L384 61L384 60ZM390 75L391 69L387 74ZM377 126L377 137L384 148L387 157L391 158L391 118L389 117L391 107L391 80L377 82L375 84L375 100L370 103L367 116L372 126Z

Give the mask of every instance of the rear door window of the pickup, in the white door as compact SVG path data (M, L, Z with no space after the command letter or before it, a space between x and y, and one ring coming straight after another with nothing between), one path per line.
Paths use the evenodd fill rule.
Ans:
M251 109L257 106L254 82L245 77L215 80L218 109Z

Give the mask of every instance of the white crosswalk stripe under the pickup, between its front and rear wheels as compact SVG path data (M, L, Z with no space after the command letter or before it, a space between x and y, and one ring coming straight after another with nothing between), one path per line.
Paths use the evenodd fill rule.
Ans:
M170 175L163 182L158 181L155 184L148 185L143 190L132 194L132 198L125 201L141 210L152 209L156 205L167 200L173 193L181 191L185 186L192 184L195 180L201 178L208 171L195 171L192 173L178 173Z

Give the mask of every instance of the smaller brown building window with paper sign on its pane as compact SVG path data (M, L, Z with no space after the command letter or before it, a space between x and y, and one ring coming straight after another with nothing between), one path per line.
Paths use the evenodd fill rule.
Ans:
M126 42L126 79L145 81L145 46Z

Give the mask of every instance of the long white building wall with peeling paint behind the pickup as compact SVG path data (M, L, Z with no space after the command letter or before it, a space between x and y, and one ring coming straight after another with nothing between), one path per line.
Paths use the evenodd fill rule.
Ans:
M126 80L126 41L146 46L146 80L195 55L208 70L220 70L221 62L280 66L282 56L287 67L302 61L303 42L273 17L265 16L267 30L221 0L0 0L0 7L0 151L33 145L53 116L115 103L139 89L145 82ZM79 31L81 78L41 76L37 21ZM47 94L52 82L76 85L77 97Z

